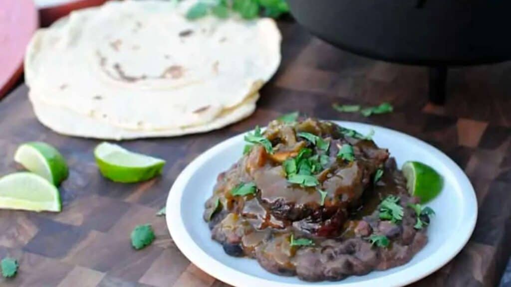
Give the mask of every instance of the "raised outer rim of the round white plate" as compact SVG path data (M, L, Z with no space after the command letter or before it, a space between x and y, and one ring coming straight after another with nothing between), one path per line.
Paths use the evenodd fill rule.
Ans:
M236 269L233 269L227 265L224 265L221 261L211 257L208 255L205 251L202 250L202 248L195 243L193 238L188 233L186 227L183 224L183 221L181 220L181 197L183 194L184 187L187 185L188 181L192 178L193 174L197 171L200 166L210 159L211 156L214 156L218 151L222 150L224 146L232 145L233 142L237 141L238 138L242 137L246 132L239 133L237 135L231 136L229 138L226 138L220 142L218 142L215 146L207 149L203 153L201 153L199 156L197 156L193 161L191 161L186 168L178 175L176 180L174 181L170 191L169 195L167 197L167 214L166 214L166 223L167 227L169 229L170 235L172 237L172 240L176 244L177 248L180 250L180 252L187 257L188 260L190 260L191 263L195 264L199 269L207 273L208 275L223 281L227 284L238 286L238 287L308 287L311 285L318 285L318 286L343 286L343 287L354 287L355 285L357 287L363 287L363 286L374 286L375 283L378 283L378 281L385 278L388 280L389 278L392 280L392 285L389 286L403 286L406 284L410 284L412 282L416 282L418 280L421 280L435 271L439 270L443 266L445 266L449 261L451 261L468 243L470 240L470 237L472 236L472 233L475 230L476 222L477 222L477 216L478 216L478 202L477 197L475 193L475 189L470 182L468 176L463 172L463 170L459 167L459 165L454 162L449 156L447 156L444 152L440 151L436 147L430 145L429 143L425 142L424 140L420 138L416 138L414 136L408 135L404 132L400 132L397 130L393 130L390 128L378 126L378 125L372 125L367 123L359 123L359 122L350 122L350 121L330 121L333 123L336 123L340 126L359 126L361 128L376 128L379 130L383 130L386 133L390 134L396 134L400 137L403 137L404 139L415 141L418 145L428 149L430 152L435 153L435 157L442 160L442 162L445 163L449 167L449 169L453 172L455 175L456 181L461 186L466 186L470 190L466 190L467 195L469 197L466 199L469 201L468 206L475 206L474 212L471 217L471 221L467 222L464 225L461 225L462 230L464 230L464 237L462 240L458 241L460 244L455 249L452 249L452 251L447 255L442 257L441 260L435 261L434 265L428 266L424 271L419 273L413 273L412 275L406 275L402 276L403 272L406 270L399 271L397 273L389 274L384 277L375 278L372 280L364 281L364 282L350 282L350 283L344 283L342 280L336 282L330 282L330 281L322 281L322 282L328 282L328 285L321 284L322 282L307 282L303 281L298 284L295 283L286 283L286 282L276 282L273 280L268 280L264 278L260 278L251 274L246 274L241 271L238 271ZM442 245L443 246L443 245ZM422 261L427 260L428 258L423 259ZM420 261L420 262L422 262ZM406 264L405 264L406 265ZM404 266L405 266L404 265ZM360 276L363 277L363 276ZM240 284L240 282L243 282L243 285Z

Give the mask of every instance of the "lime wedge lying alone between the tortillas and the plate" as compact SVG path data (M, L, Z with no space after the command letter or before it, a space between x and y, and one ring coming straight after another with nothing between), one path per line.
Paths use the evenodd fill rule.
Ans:
M161 173L165 160L133 153L112 143L102 142L94 150L101 174L116 182L148 180Z

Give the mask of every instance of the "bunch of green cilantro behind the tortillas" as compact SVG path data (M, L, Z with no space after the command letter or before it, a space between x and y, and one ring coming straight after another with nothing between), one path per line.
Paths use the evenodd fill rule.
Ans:
M247 20L260 15L278 18L289 13L289 5L286 0L201 0L188 10L186 16L190 20L196 20L212 14L224 19L231 13L237 13Z

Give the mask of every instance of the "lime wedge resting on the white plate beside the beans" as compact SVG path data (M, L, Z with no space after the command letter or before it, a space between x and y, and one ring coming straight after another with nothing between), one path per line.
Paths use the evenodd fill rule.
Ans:
M431 201L442 191L444 178L431 166L417 161L407 161L403 164L402 171L408 192L419 197L421 203Z

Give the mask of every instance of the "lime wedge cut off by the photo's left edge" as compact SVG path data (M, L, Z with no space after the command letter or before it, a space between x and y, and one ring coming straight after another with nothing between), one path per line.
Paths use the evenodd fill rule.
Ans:
M0 178L0 208L60 211L59 190L47 179L29 172Z

